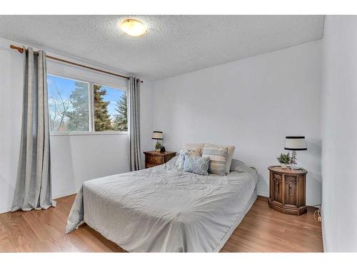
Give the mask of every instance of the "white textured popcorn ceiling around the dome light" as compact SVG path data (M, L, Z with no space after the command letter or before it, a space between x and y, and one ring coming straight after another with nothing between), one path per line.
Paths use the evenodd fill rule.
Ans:
M136 18L148 33L119 29ZM159 80L322 38L324 16L0 16L0 36Z

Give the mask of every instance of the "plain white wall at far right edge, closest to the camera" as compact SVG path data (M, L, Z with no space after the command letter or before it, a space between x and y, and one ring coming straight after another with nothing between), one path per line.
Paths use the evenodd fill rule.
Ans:
M322 80L324 251L356 252L356 16L326 16Z

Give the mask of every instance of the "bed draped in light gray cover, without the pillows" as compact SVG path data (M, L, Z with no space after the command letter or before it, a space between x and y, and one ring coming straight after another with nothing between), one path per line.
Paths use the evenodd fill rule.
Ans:
M176 157L84 182L66 233L86 223L126 251L220 251L256 200L256 170L233 159L228 175L202 176L179 170Z

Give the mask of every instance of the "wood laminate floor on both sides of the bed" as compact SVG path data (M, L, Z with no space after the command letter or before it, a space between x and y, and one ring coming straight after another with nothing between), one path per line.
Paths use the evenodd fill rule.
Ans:
M119 251L119 246L84 224L64 234L75 195L56 199L57 207L0 214L0 252ZM319 252L321 224L307 214L281 214L259 197L221 252Z

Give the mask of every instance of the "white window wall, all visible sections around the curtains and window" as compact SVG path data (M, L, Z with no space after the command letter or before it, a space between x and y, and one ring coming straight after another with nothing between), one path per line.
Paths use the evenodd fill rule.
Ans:
M21 132L22 55L0 38L0 213L14 197ZM21 46L21 44L17 45ZM60 56L61 58L66 58ZM88 65L88 64L87 64ZM126 88L126 80L48 61L48 71L82 80ZM141 84L141 149L152 147L151 82ZM87 179L129 171L128 135L51 136L51 177L54 197L74 194Z

